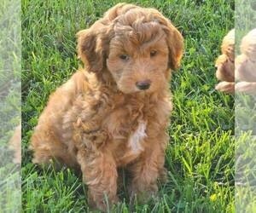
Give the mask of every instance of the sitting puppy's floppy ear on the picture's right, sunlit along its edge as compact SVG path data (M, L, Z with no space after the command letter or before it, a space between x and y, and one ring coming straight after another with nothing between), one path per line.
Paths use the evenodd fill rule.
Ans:
M175 70L180 66L180 60L183 56L183 36L172 25L171 21L167 20L158 11L155 11L154 16L162 25L164 32L166 32L166 42L169 49L169 67Z

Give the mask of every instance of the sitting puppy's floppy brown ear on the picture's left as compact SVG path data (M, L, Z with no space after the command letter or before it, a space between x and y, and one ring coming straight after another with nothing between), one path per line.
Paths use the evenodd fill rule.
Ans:
M108 26L93 25L77 33L78 55L89 72L101 72L108 56Z

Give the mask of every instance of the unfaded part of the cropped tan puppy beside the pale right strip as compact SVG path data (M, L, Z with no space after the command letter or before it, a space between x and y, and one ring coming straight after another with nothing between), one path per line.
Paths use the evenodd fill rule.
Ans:
M216 78L220 83L215 89L222 92L235 93L235 29L231 30L223 39L222 55L216 61Z

